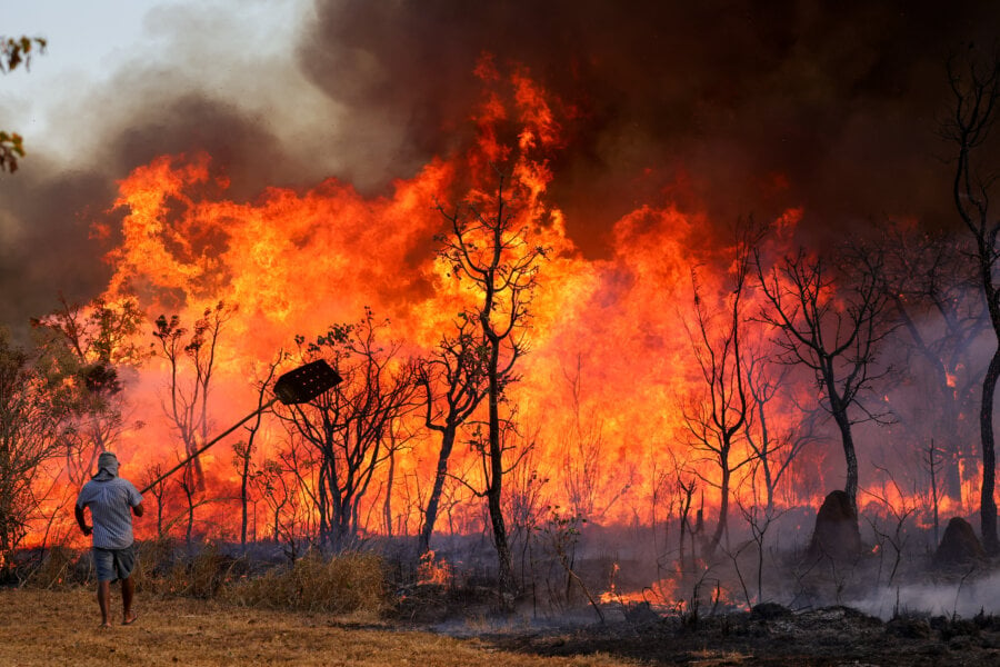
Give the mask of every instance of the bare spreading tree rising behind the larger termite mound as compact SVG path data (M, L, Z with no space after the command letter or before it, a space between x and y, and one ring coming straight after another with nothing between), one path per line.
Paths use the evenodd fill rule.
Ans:
M892 331L883 257L846 247L828 262L799 249L768 270L757 253L757 271L770 306L761 310L761 319L780 332L776 342L782 361L812 371L820 405L840 430L844 492L857 516L858 455L851 427L884 419L861 400L888 372L878 365L879 344Z

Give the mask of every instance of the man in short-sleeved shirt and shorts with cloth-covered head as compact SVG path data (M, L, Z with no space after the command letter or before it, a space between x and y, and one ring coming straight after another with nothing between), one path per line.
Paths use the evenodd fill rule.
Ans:
M83 520L83 508L90 508L93 528ZM98 605L101 628L110 628L109 606L111 584L121 579L121 625L131 625L139 617L132 611L136 585L136 548L132 537L132 516L142 516L142 495L128 479L118 476L118 458L110 451L98 457L97 475L80 489L77 497L77 524L83 535L93 534L93 564L98 575Z

